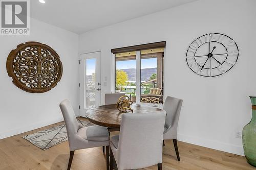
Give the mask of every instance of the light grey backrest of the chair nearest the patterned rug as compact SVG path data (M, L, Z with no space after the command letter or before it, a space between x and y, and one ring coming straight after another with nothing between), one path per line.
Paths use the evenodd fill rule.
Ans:
M70 143L72 143L72 140L74 138L74 136L77 134L78 128L79 128L79 124L76 120L76 116L74 113L74 110L72 108L72 105L70 103L70 101L63 100L60 104L59 104L60 110L62 112L62 115L64 117L65 120L65 124L66 124L66 128L67 128L67 133L68 133L68 138L70 140Z

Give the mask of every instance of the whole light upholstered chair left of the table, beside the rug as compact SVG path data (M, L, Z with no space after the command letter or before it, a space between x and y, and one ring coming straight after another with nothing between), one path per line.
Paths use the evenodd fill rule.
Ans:
M68 139L70 158L68 170L71 167L75 150L106 146L106 167L109 169L109 133L105 127L90 126L83 127L78 124L74 110L68 100L64 100L59 104L62 115L64 117Z

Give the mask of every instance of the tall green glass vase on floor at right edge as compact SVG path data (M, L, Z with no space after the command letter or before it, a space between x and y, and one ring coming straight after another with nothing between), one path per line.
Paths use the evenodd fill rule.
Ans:
M256 96L250 96L252 117L243 129L243 147L247 162L256 167Z

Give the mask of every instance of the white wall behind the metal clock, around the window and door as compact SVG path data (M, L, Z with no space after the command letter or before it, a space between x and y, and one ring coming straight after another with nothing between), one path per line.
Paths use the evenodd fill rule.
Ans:
M84 33L79 53L101 51L102 82L111 79L111 48L166 41L166 95L183 99L178 139L243 154L236 131L251 118L249 95L256 94L254 56L256 1L197 1ZM240 50L237 64L225 75L200 77L185 61L191 42L206 33L224 33ZM102 87L102 99L110 92ZM102 100L103 102L103 100Z

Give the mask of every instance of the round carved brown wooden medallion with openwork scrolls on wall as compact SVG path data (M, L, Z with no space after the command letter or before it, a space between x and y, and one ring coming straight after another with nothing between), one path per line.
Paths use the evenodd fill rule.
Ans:
M51 90L62 76L58 54L50 46L39 42L17 45L7 58L6 69L18 88L31 93Z

